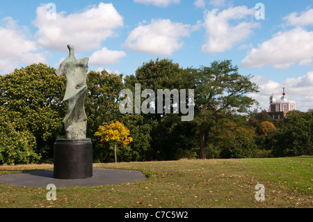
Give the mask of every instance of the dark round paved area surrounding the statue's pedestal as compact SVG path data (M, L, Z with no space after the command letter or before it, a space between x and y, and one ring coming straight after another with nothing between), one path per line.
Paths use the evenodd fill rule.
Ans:
M54 178L53 170L10 173L0 176L0 184L17 187L97 187L107 184L121 184L147 178L141 171L93 168L93 177L86 179L61 180Z

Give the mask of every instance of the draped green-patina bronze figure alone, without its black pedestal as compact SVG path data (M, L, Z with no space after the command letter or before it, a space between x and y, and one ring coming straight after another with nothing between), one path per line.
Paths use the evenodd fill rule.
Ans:
M74 47L67 45L70 55L56 70L58 77L65 76L67 86L63 101L67 101L67 115L63 122L67 139L86 138L87 117L85 113L85 96L87 93L87 71L89 58L77 60Z

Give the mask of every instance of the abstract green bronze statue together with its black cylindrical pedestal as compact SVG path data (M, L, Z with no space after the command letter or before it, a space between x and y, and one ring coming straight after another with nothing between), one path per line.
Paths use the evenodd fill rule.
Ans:
M77 60L74 47L67 45L70 55L56 70L58 77L65 76L67 86L63 101L67 101L65 138L54 143L54 178L84 179L93 176L93 143L86 138L87 118L84 100L87 93L89 58Z

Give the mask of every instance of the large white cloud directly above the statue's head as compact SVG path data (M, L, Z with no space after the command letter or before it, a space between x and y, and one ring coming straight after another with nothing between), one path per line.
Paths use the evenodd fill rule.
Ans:
M37 42L52 51L66 51L68 44L77 51L98 49L123 26L123 18L112 3L99 3L82 13L56 13L56 19L47 17L47 5L38 7L36 13L33 24L39 29Z

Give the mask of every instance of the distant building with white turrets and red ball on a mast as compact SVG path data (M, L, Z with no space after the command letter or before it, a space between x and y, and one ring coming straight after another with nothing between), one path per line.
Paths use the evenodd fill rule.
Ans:
M273 118L273 120L280 120L286 116L287 112L296 110L296 102L294 100L287 100L285 95L286 93L284 93L283 88L283 93L280 100L276 100L273 95L269 97L270 106L267 112L268 115Z

